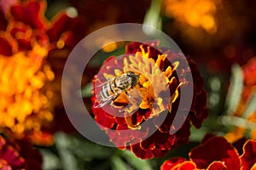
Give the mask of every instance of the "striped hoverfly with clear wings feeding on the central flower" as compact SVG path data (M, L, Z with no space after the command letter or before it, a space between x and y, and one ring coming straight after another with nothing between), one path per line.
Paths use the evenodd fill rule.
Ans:
M119 94L127 91L131 88L134 88L138 83L139 75L133 71L128 71L119 77L114 77L108 79L107 82L102 83L99 87L102 87L102 90L99 95L98 104L95 105L96 108L102 107L110 100L112 102L119 97ZM112 105L113 103L111 103Z

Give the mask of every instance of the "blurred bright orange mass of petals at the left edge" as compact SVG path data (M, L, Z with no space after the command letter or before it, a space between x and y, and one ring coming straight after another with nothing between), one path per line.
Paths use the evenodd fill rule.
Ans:
M0 55L0 127L22 134L53 120L53 92L47 84L55 76L43 63L47 52L35 45L32 51L12 57Z

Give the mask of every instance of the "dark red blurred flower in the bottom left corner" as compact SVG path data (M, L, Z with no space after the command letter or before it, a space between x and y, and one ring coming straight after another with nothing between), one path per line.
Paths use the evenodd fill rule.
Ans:
M1 169L42 169L42 156L25 139L11 143L0 135Z

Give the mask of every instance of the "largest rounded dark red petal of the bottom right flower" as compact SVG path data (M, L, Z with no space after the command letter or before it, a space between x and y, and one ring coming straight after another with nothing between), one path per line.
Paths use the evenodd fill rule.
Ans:
M207 168L213 161L224 162L227 169L239 170L240 159L236 149L223 137L212 137L189 152L197 168Z

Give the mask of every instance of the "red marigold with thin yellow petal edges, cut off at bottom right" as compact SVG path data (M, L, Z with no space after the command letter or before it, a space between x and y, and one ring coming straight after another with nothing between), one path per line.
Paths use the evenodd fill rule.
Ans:
M223 137L214 136L189 152L189 161L182 157L174 157L164 161L161 170L176 169L227 169L248 170L255 166L256 142L247 140L243 146L243 154L239 156L236 148ZM255 168L255 167L254 167Z

